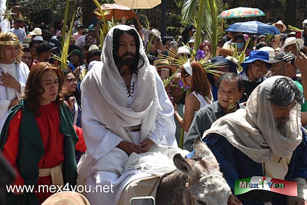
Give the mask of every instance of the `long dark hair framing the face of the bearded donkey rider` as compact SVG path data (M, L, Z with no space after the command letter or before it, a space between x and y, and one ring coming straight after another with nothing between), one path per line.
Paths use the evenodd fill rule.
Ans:
M130 29L127 31L120 30L120 29L114 29L113 31L113 59L118 69L121 68L122 65L121 65L119 58L117 57L117 52L119 49L119 37L125 33L133 36L136 42L136 55L135 55L136 62L134 65L130 67L130 69L132 72L138 73L138 70L144 66L145 59L142 55L140 55L140 36L134 29Z

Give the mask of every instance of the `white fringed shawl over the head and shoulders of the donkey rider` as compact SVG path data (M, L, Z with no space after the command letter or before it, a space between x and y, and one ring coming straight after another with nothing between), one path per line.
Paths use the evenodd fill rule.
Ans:
M141 138L145 139L156 126L156 118L161 112L156 85L156 69L150 66L143 49L142 39L139 37L139 53L144 58L144 65L138 70L137 85L133 103L129 105L125 83L119 73L113 58L113 32L115 29L124 31L135 30L135 28L118 25L107 33L101 54L101 62L95 63L89 76L83 81L96 81L95 88L89 88L81 84L82 92L90 92L95 99L93 107L98 119L104 122L105 127L122 137L123 139L133 142L130 136L130 126L137 126L142 121ZM84 82L82 82L84 83Z

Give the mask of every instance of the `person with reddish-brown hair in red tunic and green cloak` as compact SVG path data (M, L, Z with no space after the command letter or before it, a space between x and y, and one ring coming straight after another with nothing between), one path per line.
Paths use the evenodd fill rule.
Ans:
M24 100L10 111L0 148L17 172L13 185L35 185L37 198L15 190L8 196L9 204L40 204L53 193L38 190L38 185L75 183L74 148L84 152L85 145L84 139L76 145L70 111L63 104L63 79L60 69L49 63L36 64L28 77ZM51 177L52 173L57 174Z

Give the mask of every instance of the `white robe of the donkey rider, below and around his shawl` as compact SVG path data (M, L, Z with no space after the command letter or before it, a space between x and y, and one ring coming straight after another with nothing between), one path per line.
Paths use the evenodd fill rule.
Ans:
M89 75L91 72L93 70L89 72ZM134 78L136 78L135 75ZM149 152L144 154L133 153L128 156L124 151L116 148L123 138L106 129L103 121L93 117L95 113L91 107L95 105L91 101L95 96L91 92L82 92L82 128L87 151L78 163L77 181L82 183L86 180L87 189L91 186L91 193L86 194L91 204L118 204L123 189L131 181L152 175L161 176L176 169L173 166L172 157L180 150L178 150L175 138L176 126L173 119L173 106L158 73L156 81L162 113L156 119L156 128L149 138L160 147L154 145ZM86 86L95 89L92 81L88 81ZM137 86L136 84L135 89L142 89ZM129 99L130 103L131 101L133 98ZM103 105L99 106L103 109ZM131 126L136 125L138 124ZM140 132L132 132L131 134L134 136L134 143L138 145L141 139ZM96 185L111 186L111 183L114 185L114 193L92 193Z

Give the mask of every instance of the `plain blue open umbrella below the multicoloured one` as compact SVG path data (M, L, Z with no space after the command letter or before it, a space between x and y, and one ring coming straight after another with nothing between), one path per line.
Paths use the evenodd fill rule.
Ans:
M226 29L226 31L258 33L258 34L279 34L279 30L272 25L264 24L253 20L252 22L234 23Z

